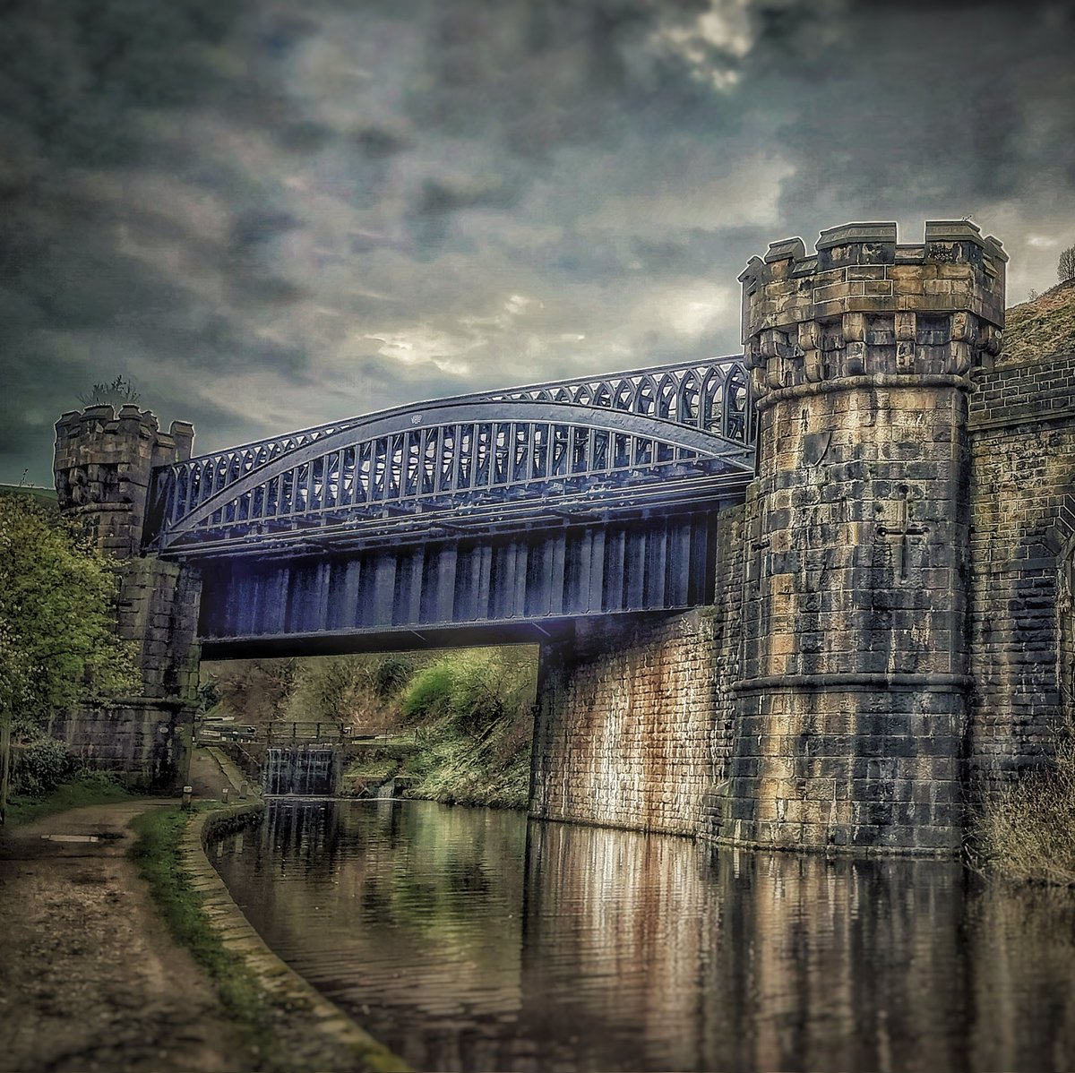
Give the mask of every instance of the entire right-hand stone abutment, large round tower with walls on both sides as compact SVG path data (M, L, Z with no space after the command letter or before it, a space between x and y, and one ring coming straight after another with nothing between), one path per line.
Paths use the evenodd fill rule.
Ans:
M1050 761L1075 718L1075 355L1005 360L999 243L924 238L850 225L751 261L739 554L701 615L543 649L535 815L950 855L969 805Z

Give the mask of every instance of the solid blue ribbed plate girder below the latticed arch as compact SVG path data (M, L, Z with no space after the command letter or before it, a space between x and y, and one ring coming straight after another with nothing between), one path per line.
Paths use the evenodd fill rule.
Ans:
M207 558L209 659L542 642L593 616L711 603L717 504L527 533Z

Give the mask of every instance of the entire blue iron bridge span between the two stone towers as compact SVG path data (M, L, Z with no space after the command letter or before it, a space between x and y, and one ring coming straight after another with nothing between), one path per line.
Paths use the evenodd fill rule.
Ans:
M155 471L206 658L534 641L713 599L755 471L742 358L399 406Z

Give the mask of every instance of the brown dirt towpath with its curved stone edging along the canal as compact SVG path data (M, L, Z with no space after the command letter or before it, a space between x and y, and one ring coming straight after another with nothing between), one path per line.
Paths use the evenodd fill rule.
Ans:
M201 774L206 792L231 785L204 758ZM257 981L264 1031L236 1031L204 959L170 933L131 858L132 825L159 826L177 804L130 799L5 832L0 1073L405 1069L268 950L223 884L212 889L202 839L249 806L196 817L178 879L195 895L189 904L201 902L215 942Z

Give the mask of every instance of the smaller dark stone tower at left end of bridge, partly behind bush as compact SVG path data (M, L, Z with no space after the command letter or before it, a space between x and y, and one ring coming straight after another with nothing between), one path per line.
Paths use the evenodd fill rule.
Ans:
M64 414L54 472L61 511L116 559L120 635L141 645L142 690L104 710L63 713L52 728L91 766L154 790L182 786L198 685L199 586L176 563L142 554L153 469L190 457L194 428L161 432L148 411L111 405Z

